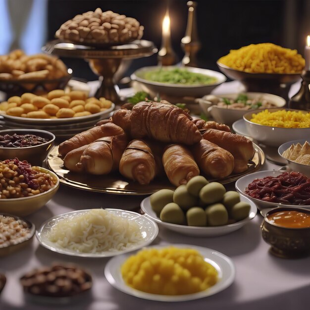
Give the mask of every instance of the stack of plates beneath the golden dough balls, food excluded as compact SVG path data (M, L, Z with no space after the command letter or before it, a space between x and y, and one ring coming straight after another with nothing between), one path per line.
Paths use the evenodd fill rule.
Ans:
M3 114L0 118L0 126L3 129L43 129L52 132L58 140L66 140L93 127L99 120L108 118L114 107L112 103L112 106L105 111L72 118L36 119Z

